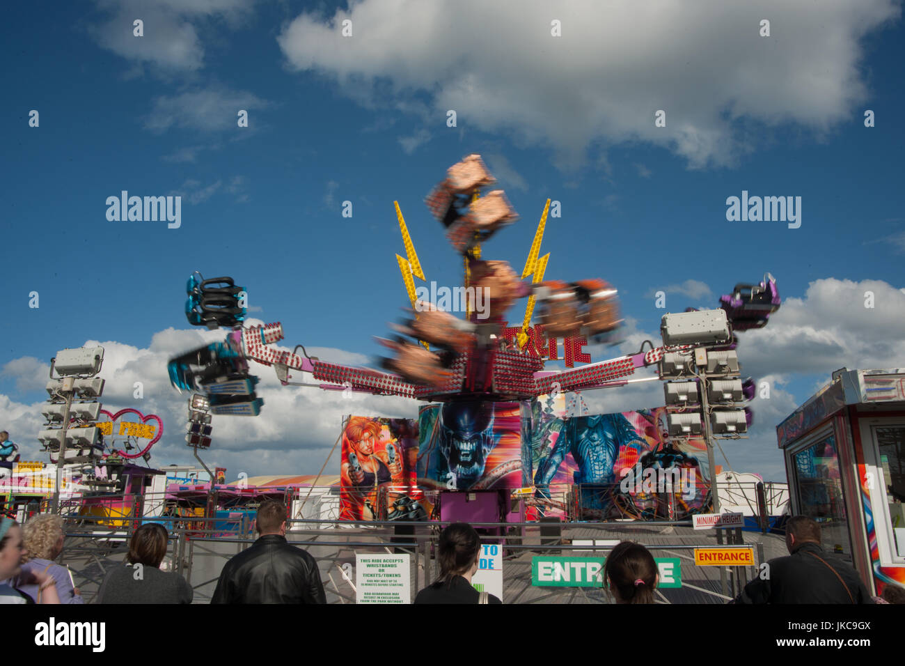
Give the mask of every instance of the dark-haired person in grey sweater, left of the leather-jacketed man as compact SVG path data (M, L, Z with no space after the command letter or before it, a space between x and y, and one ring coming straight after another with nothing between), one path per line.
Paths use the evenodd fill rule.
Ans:
M186 579L160 571L165 555L167 530L157 523L138 527L126 563L111 569L100 585L98 603L192 603Z

